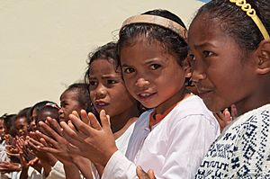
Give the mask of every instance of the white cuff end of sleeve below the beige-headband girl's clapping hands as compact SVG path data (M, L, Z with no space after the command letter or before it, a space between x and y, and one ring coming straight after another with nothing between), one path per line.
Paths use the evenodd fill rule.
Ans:
M136 165L118 150L104 168L102 179L132 179L137 178Z

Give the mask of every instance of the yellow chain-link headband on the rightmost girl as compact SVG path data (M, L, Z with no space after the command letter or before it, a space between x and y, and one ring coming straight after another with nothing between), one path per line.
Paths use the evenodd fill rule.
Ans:
M256 23L258 29L263 34L265 40L270 39L268 32L266 31L266 27L263 22L258 18L255 9L251 8L251 4L248 4L246 0L229 0L230 3L235 3L239 7L241 7L242 11L247 13L247 16L251 17L251 19Z

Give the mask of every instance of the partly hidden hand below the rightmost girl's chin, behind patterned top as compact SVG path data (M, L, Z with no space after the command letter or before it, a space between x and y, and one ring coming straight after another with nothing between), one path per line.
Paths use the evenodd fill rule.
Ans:
M220 130L222 131L229 123L238 117L238 112L236 106L232 104L230 106L230 112L228 108L226 108L223 112L215 112L213 113L215 118L220 123Z

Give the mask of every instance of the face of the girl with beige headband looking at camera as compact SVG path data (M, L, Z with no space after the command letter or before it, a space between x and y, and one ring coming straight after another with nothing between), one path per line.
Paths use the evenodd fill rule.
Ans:
M130 94L147 108L165 112L183 98L184 80L191 74L179 66L157 40L144 37L121 49L121 70Z

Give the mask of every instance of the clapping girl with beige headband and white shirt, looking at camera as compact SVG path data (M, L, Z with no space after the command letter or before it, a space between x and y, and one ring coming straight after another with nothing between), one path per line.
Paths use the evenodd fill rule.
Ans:
M185 89L191 77L185 40L184 23L165 10L123 22L118 53L125 85L142 105L153 108L136 122L127 157L116 148L104 111L102 127L91 114L91 126L71 116L79 132L61 123L76 146L72 150L105 166L103 178L136 178L137 165L154 168L157 178L194 177L219 125L202 100Z

